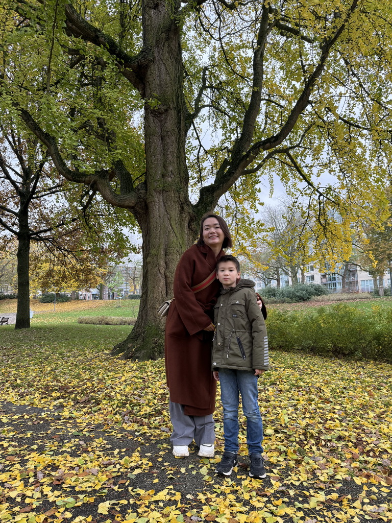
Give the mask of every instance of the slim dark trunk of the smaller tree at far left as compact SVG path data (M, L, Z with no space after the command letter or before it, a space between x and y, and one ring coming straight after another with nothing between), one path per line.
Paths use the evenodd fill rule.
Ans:
M16 311L15 328L30 327L30 281L29 281L29 210L21 202L19 209L19 234L18 234L18 304Z

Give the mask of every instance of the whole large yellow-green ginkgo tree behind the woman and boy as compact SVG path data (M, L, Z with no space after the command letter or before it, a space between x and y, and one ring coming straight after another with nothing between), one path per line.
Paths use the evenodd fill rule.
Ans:
M119 348L128 356L160 354L153 311L171 294L201 215L221 206L248 237L261 179L276 174L306 197L320 231L339 208L337 242L353 215L373 215L369 190L386 209L390 3L3 5L1 109L47 147L63 177L140 225L141 313Z

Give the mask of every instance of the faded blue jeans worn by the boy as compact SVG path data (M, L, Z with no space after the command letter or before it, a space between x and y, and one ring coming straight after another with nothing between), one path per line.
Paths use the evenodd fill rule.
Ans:
M251 371L220 369L221 399L223 404L223 431L225 452L238 453L238 404L239 392L246 416L246 442L249 454L261 454L263 424L258 403L258 378Z

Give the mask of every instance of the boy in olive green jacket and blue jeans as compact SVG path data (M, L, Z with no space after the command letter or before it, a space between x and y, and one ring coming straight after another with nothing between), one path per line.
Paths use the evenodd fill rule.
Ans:
M266 477L261 456L263 426L258 404L258 377L268 370L266 324L253 281L241 280L238 260L222 256L216 266L216 277L222 283L215 310L215 335L212 369L221 382L225 450L217 474L229 476L238 463L238 403L241 393L247 419L247 445L250 454L250 477Z

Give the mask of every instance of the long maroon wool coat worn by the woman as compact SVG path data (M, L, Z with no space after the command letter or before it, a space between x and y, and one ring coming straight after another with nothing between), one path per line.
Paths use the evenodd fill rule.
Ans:
M184 405L189 416L206 416L215 410L216 382L211 372L213 322L220 282L214 280L194 293L191 287L209 277L216 261L206 245L192 245L181 257L174 277L174 301L166 318L165 363L170 400Z

